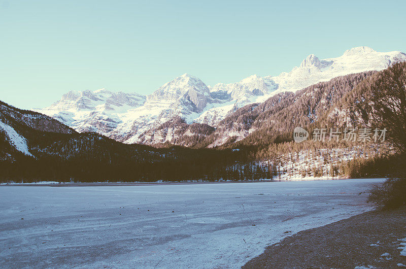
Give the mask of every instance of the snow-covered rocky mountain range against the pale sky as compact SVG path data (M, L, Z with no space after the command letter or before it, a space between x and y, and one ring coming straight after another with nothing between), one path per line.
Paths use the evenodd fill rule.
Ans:
M291 72L279 76L252 75L240 82L211 87L184 74L147 96L106 89L70 91L51 106L35 111L79 132L94 131L128 144L164 143L171 139L151 139L151 132L153 136L154 130L174 118L184 119L186 124L216 127L237 109L264 102L277 93L295 92L338 76L382 70L396 60L406 60L406 54L356 47L336 58L319 59L311 54Z

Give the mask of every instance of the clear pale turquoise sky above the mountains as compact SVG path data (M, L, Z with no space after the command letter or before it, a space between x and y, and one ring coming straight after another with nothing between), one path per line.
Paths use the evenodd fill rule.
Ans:
M0 100L69 90L149 94L184 73L208 85L278 75L309 54L406 52L406 1L0 0Z

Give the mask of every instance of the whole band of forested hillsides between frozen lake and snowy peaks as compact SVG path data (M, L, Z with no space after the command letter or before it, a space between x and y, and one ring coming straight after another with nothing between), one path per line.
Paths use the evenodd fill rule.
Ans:
M282 92L230 113L216 126L180 117L143 133L172 137L156 147L122 144L78 133L53 118L0 103L0 180L157 181L256 180L382 175L395 162L377 139L312 141L318 128L375 126L369 85L380 72L320 82ZM293 142L300 126L310 137ZM164 139L166 140L166 139ZM185 146L189 146L187 148ZM385 155L385 156L384 156ZM379 161L377 161L379 160ZM385 161L383 161L385 160ZM369 169L362 169L369 165ZM392 167L393 168L393 167Z

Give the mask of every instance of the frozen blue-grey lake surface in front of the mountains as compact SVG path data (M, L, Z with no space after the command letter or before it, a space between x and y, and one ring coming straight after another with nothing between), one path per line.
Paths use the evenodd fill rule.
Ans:
M0 186L0 267L231 267L367 211L382 179Z

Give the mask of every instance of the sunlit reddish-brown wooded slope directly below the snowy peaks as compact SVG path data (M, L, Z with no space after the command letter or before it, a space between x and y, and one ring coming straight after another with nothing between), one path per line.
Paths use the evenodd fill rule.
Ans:
M376 74L375 71L350 74L297 92L275 94L265 102L246 105L229 114L210 132L197 126L198 123L193 123L195 126L185 122L165 123L142 137L150 139L150 142L170 142L190 147L211 148L224 144L237 147L291 141L291 133L296 126L367 126L368 111L363 107L367 96L359 91L358 85ZM164 137L162 133L171 133L171 136Z

